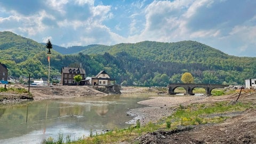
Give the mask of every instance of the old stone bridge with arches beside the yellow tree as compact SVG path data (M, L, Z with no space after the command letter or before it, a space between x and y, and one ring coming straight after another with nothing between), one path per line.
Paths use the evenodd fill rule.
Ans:
M228 87L229 85L222 85L222 84L169 84L167 86L168 88L168 94L176 94L174 90L177 87L183 87L186 90L186 94L193 95L193 90L196 87L203 87L206 91L207 95L211 95L211 92L213 89L216 88L225 88Z

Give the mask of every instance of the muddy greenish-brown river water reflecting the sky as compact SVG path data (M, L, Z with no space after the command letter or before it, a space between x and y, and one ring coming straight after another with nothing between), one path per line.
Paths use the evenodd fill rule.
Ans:
M129 109L143 107L137 102L156 95L121 94L103 98L30 101L0 106L0 143L41 143L49 137L67 135L71 140L129 127Z

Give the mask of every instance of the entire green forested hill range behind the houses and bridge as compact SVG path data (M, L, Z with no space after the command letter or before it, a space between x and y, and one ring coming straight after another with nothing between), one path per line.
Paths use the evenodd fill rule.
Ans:
M82 64L86 76L106 70L117 84L140 86L180 83L185 72L194 76L195 83L244 84L244 79L256 77L256 58L230 56L194 41L74 46L67 49L73 54L57 52L63 49L53 45L51 75L59 75L62 66ZM47 77L46 53L45 44L0 32L0 62L6 64L9 75Z

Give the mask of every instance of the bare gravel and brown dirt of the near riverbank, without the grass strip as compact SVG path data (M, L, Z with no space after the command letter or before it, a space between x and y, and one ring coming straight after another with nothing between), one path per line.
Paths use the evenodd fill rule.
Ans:
M252 103L256 105L256 92L239 92L218 97L151 97L149 100L138 103L148 107L132 109L127 112L136 116L133 122L139 120L142 125L149 122L157 123L160 119L172 115L177 107L185 107L193 103L206 104L226 101L233 103ZM218 114L217 114L218 115ZM201 124L196 126L180 127L175 131L158 130L146 133L136 138L137 143L256 143L256 109L249 108L244 111L234 111L219 114L228 118L223 123Z

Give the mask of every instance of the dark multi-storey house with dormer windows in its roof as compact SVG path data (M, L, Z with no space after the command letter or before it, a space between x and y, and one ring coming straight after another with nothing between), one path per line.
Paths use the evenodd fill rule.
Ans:
M74 76L81 75L82 79L85 78L85 70L82 68L70 68L62 67L61 68L61 85L77 85Z

